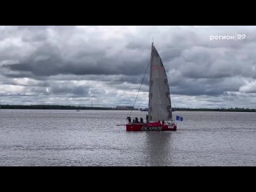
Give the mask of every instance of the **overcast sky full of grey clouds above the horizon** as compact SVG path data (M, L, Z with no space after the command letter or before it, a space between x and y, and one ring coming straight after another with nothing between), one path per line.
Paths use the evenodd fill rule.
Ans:
M153 38L173 106L256 108L256 26L0 26L0 104L133 106Z

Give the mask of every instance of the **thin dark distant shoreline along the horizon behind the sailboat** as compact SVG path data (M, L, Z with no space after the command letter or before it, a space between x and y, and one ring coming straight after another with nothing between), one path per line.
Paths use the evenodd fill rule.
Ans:
M88 106L51 106L51 105L33 105L33 106L19 106L19 105L1 105L2 110L120 110L113 107L88 107ZM134 109L141 110L141 109ZM256 112L255 109L245 108L218 108L218 109L207 109L207 108L174 108L174 111L216 111L216 112Z

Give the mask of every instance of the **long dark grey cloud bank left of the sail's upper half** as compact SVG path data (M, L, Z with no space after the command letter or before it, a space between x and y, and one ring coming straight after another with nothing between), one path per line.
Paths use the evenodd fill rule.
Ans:
M91 51L90 51L91 52ZM87 56L87 57L86 57ZM83 57L83 58L82 58ZM19 63L3 65L12 71L21 71L34 76L52 76L57 74L142 74L147 60L142 58L132 61L122 60L120 55L106 57L102 50L94 53L78 52L73 61L62 58L61 51L49 44L38 47L38 50ZM78 61L76 61L78 60Z

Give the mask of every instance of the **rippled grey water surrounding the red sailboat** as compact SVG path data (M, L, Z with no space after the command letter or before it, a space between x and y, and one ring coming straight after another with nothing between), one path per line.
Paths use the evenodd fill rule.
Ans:
M256 166L255 113L177 111L177 132L140 133L116 126L128 114L1 110L0 166Z

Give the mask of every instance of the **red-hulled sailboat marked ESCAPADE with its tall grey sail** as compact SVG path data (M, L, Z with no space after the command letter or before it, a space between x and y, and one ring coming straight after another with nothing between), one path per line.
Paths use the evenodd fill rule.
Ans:
M151 47L149 108L146 122L128 122L127 131L177 130L170 102L170 88L158 50Z

